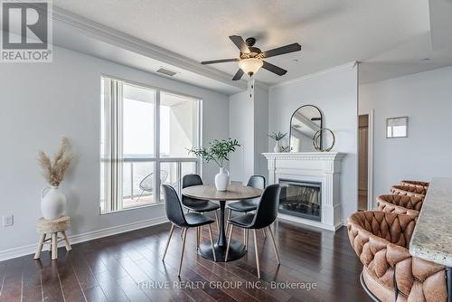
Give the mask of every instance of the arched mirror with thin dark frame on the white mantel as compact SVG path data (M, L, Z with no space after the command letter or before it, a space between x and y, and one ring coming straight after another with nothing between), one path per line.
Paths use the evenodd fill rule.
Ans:
M320 109L314 105L304 105L295 110L290 118L288 145L291 152L313 152L315 148L311 139L315 132L323 127L323 117ZM319 145L322 147L322 135Z

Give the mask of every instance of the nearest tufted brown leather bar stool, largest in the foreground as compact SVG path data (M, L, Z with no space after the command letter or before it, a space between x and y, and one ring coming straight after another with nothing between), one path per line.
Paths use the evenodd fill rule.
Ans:
M447 300L445 268L410 255L415 224L415 216L392 212L355 212L348 218L363 283L381 301Z

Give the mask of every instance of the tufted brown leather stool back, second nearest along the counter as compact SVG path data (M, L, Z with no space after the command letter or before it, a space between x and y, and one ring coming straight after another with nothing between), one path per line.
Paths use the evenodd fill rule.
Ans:
M377 210L419 216L422 203L420 197L385 194L377 197Z

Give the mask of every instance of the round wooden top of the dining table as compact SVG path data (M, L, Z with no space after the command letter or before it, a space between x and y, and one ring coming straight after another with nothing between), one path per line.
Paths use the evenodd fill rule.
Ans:
M259 197L262 190L242 184L230 184L227 191L217 191L214 185L193 185L184 188L182 194L201 200L237 201Z

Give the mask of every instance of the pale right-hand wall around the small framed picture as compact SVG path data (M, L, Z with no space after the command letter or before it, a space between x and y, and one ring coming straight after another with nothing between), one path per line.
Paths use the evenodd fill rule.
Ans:
M374 196L401 179L452 177L452 67L360 85L359 112L374 109ZM386 138L386 118L409 117L407 138Z

